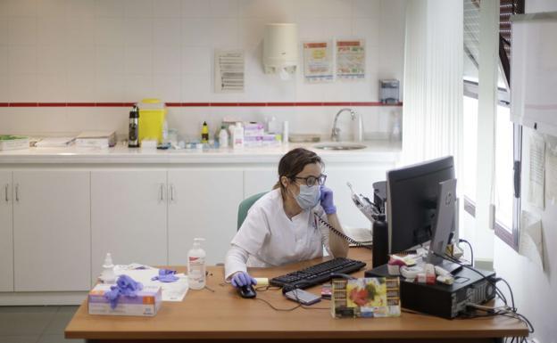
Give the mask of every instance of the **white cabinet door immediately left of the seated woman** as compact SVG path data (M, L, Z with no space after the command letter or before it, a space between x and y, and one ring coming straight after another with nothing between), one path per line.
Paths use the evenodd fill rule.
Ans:
M206 261L224 262L236 234L243 200L243 171L237 168L170 169L169 262L187 264L195 237L203 237Z

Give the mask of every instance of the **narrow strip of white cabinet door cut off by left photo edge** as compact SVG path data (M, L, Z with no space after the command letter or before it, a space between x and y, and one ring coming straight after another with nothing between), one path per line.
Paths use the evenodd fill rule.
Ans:
M12 172L0 171L0 291L13 291Z

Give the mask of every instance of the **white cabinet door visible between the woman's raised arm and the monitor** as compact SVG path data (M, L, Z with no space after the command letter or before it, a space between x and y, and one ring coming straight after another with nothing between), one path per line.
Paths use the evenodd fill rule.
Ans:
M333 190L338 219L343 227L363 228L371 225L368 218L353 204L346 183L351 183L355 192L361 192L373 200L373 183L384 181L390 168L392 167L326 167L326 185Z

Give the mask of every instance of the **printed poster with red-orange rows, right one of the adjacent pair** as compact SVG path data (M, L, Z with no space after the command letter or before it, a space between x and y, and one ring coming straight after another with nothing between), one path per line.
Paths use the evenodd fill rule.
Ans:
M365 78L365 45L363 39L337 40L337 78Z

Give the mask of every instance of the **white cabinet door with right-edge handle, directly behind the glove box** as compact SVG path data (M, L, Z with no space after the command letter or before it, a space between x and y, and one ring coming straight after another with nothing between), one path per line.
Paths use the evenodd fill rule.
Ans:
M104 256L117 265L166 265L166 171L91 172L92 279Z

